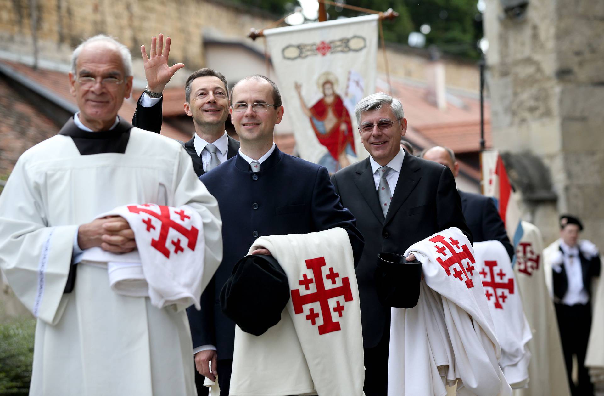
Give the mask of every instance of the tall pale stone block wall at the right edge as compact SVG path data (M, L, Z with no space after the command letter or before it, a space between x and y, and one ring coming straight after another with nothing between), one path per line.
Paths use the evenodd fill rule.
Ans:
M522 200L525 219L549 243L557 214L574 213L583 237L604 248L604 2L530 0L519 19L486 4L494 146L541 158L557 194L556 203Z

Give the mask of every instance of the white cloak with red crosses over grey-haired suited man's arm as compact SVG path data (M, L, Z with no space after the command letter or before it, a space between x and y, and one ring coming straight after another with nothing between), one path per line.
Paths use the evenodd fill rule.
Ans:
M392 309L388 396L445 395L455 380L459 396L511 395L466 236L443 230L405 256L411 253L423 262L424 279L416 307Z

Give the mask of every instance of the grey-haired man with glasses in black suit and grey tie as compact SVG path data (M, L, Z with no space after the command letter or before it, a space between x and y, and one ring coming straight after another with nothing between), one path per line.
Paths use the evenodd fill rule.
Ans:
M384 93L373 94L357 103L355 113L370 157L336 172L332 183L365 238L356 267L365 348L364 391L367 396L381 396L387 394L391 307L382 304L374 281L377 255L403 255L415 242L449 227L458 227L470 241L472 235L451 170L400 147L407 129L400 101ZM401 285L407 281L400 278ZM417 295L408 300L416 302Z

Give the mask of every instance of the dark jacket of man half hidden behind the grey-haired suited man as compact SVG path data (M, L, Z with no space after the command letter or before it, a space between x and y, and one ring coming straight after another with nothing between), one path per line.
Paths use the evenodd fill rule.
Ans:
M514 256L514 248L507 238L506 226L493 200L480 194L460 190L458 192L461 198L461 210L474 242L500 241L511 260Z

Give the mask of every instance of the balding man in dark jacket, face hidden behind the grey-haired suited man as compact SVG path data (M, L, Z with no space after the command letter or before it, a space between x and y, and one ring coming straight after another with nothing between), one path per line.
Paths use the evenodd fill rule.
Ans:
M451 169L454 177L459 175L459 164L455 161L455 153L449 148L435 146L424 151L420 157L445 165ZM461 210L474 242L500 241L511 260L514 256L514 247L507 237L506 226L493 200L480 194L461 190L458 192L461 198Z

